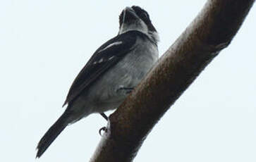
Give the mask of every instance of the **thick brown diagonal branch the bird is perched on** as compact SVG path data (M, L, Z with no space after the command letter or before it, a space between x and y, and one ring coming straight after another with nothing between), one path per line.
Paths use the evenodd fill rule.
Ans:
M133 161L161 116L230 44L253 3L254 0L207 1L145 80L111 114L91 161Z

